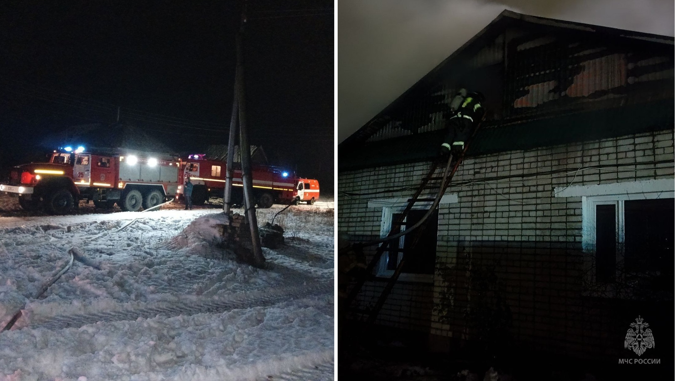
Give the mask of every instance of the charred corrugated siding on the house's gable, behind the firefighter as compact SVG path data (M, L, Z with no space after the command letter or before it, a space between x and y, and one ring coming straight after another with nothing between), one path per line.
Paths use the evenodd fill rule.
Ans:
M468 47L371 122L367 142L442 129L459 88L485 94L487 124L673 97L672 43L541 28L506 28Z

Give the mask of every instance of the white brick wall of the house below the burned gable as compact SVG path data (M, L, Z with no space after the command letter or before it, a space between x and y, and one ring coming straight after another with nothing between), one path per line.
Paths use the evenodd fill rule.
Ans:
M433 285L397 284L378 323L463 336L466 324L461 314L448 319L433 312L433 307L445 297L459 311L470 297L463 270L468 261L472 265L497 261L518 339L557 346L564 352L580 349L579 342L558 339L581 332L585 324L569 318L569 305L576 305L580 295L580 285L574 279L578 279L580 261L581 197L553 198L553 189L570 184L672 179L673 160L672 130L466 158L447 191L458 194L459 202L439 208ZM653 163L658 161L666 163ZM368 200L410 197L429 166L413 163L339 173L339 230L350 233L353 241L379 237L381 208L367 208ZM579 170L581 167L584 169ZM404 190L406 187L412 189ZM386 189L397 190L362 195ZM373 253L370 247L366 254L372 258ZM454 270L451 285L439 276L443 266ZM361 307L373 304L383 285L366 283L358 298ZM595 319L595 315L586 315L584 319ZM352 314L352 318L358 317ZM598 324L602 319L597 317Z

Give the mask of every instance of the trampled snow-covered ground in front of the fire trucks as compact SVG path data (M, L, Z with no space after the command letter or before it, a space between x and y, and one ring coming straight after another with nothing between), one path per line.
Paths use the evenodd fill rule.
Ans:
M286 245L263 248L259 270L209 239L217 208L48 216L0 194L0 329L22 310L0 332L0 381L333 380L327 206L279 214ZM259 225L281 208L258 210ZM36 299L72 247L87 264Z

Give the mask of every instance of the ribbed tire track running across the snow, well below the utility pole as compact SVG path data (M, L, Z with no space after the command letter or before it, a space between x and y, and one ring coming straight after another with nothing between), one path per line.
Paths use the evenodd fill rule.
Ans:
M136 320L138 318L154 318L158 315L170 318L179 315L219 314L238 309L266 307L284 301L319 296L321 294L332 295L333 285L330 284L329 286L330 287L327 287L326 285L290 286L264 292L239 293L226 297L225 299L215 299L213 301L157 302L147 306L132 307L130 309L117 311L57 315L42 321L39 316L34 316L34 322L32 322L32 324L29 322L23 329L47 328L49 330L59 330L63 328L80 328L97 322L116 322L122 320Z

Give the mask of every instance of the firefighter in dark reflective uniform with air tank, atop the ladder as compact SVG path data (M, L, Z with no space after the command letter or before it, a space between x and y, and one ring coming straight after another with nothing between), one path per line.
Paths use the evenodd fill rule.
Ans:
M485 115L483 109L485 97L480 92L469 93L457 112L448 119L448 134L441 144L441 154L452 153L457 158L464 151L464 144L471 136L473 128L478 125Z

